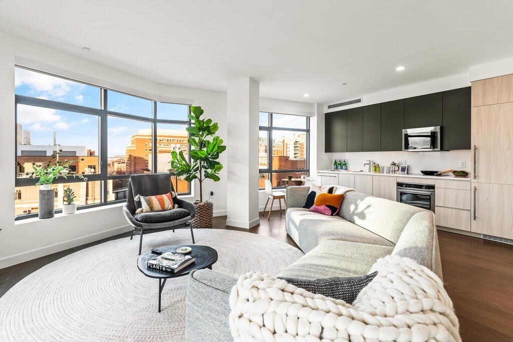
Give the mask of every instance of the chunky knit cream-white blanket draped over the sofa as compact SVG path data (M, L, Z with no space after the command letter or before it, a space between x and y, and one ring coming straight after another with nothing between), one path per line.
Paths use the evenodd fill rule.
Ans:
M378 275L352 305L248 272L230 295L232 335L235 341L461 341L435 273L400 256L379 259L373 271Z

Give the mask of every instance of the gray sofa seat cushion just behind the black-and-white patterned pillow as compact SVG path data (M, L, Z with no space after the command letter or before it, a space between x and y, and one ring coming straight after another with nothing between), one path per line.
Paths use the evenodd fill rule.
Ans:
M306 253L277 274L281 278L318 279L356 277L369 273L376 260L392 254L393 247L330 240Z

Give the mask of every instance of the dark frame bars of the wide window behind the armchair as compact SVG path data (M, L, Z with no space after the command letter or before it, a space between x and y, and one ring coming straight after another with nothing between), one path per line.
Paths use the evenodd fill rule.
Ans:
M35 184L37 183L37 180L38 178L20 178L17 176L17 167L16 167L16 162L17 162L17 157L18 157L18 145L17 145L17 138L18 138L18 130L17 130L17 123L18 123L18 114L17 114L17 110L18 110L18 105L28 105L28 106L35 106L35 107L42 107L42 108L49 108L49 109L55 109L55 110L63 110L63 111L67 111L67 112L73 112L73 113L80 113L80 114L88 114L88 115L95 115L99 118L99 127L98 127L98 151L97 153L99 153L98 155L98 167L100 168L100 172L99 173L95 173L95 174L87 174L85 175L85 178L87 178L87 182L94 182L94 181L101 181L100 182L100 186L101 186L101 200L100 200L100 203L95 203L95 204L89 204L89 205L82 205L82 206L79 206L77 207L77 210L83 210L83 209L89 209L89 208L95 208L95 207L102 207L102 206L107 206L107 205L112 205L112 204L118 204L118 203L125 203L126 202L126 199L120 199L120 200L112 200L112 201L108 201L108 196L107 196L107 192L108 192L108 187L107 187L107 182L109 180L115 180L115 179L129 179L130 178L130 174L125 174L125 175L109 175L108 174L108 117L109 116L113 116L113 117L119 117L119 118L125 118L125 119L133 119L133 120L137 120L137 121L140 121L140 122L145 122L145 123L151 123L151 129L152 129L152 136L151 136L151 157L152 157L152 168L151 168L151 173L156 173L156 170L157 170L157 124L175 124L175 125L184 125L185 127L190 127L191 126L191 121L190 119L187 119L187 120L171 120L171 119L159 119L157 118L157 102L161 102L161 101L157 101L155 99L151 99L151 98L146 98L146 97L142 97L142 96L138 96L138 95L133 95L133 94L130 94L130 93L127 93L127 92L122 92L122 91L119 91L119 90L114 90L114 89L110 89L110 88L106 88L106 87L101 87L101 86L98 86L98 85L93 85L93 84L88 84L88 83L85 83L85 82L81 82L81 81L76 81L75 79L71 79L71 78L67 78L67 77L62 77L62 76L58 76L58 75L54 75L54 74L50 74L50 73L47 73L47 72L44 72L44 71L40 71L40 70L36 70L36 69L31 69L31 68L27 68L27 67L24 67L24 66L21 66L21 65L15 65L15 68L22 68L22 69L26 69L26 70L29 70L29 71L32 71L32 72L37 72L37 73L42 73L42 74L46 74L46 75L50 75L50 76L53 76L53 77L58 77L58 78L62 78L62 79L67 79L68 81L72 81L72 82L76 82L76 83L80 83L80 84L85 84L85 85L88 85L88 86L94 86L94 87L97 87L98 88L98 91L100 91L100 109L98 108L92 108L92 107L85 107L85 106L81 106L81 105L74 105L74 104L68 104L68 103L64 103L64 102L58 102L58 101L54 101L54 100L49 100L49 99L43 99L43 98L37 98L37 97L31 97L31 96L26 96L26 95L19 95L19 94L15 94L14 96L14 178L15 178L15 182L14 182L14 186L15 187L26 187L26 186L35 186ZM129 96L134 96L134 97L140 97L140 98L143 98L143 99L146 99L146 100L150 100L152 102L152 116L151 117L146 117L146 116L140 116L140 115L134 115L134 114L125 114L125 113L119 113L119 112L115 112L115 111L109 111L107 110L108 108L108 91L111 90L111 91L115 91L115 92L118 92L118 93L123 93L123 94L126 94L126 95L129 95ZM174 102L167 102L167 101L162 101L161 103L169 103L169 104L177 104L177 105L184 105L184 106L187 106L188 107L188 115L190 115L190 107L191 107L191 104L183 104L183 103L174 103ZM21 132L22 134L22 137L23 137L23 131ZM188 159L189 159L189 162L190 162L190 145L187 143L187 146L188 146L188 150L189 150L189 153L188 153ZM174 178L174 176L173 176ZM173 179L172 179L173 180ZM83 182L83 180L80 180L80 179L76 179L76 178L73 178L73 177L69 177L69 178L58 178L56 180L54 180L54 182L52 184L66 184L66 183L77 183L77 182ZM192 187L191 187L191 183L188 184L188 191L187 192L181 192L179 193L180 195L183 195L183 196L188 196L188 195L191 195L192 194ZM55 213L61 213L62 212L62 209L55 209ZM22 215L16 215L14 217L15 220L20 220L20 219L25 219L25 218L30 218L30 217L37 217L38 213L30 213L30 214L22 214Z

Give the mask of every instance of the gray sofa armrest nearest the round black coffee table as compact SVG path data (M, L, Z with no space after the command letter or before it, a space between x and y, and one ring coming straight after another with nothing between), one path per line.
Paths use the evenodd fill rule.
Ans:
M230 292L237 279L211 270L189 275L186 299L187 341L233 341L228 323Z

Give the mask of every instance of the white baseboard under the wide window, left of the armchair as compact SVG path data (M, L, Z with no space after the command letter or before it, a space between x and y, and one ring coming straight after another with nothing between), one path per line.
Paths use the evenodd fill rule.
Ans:
M95 242L97 240L101 240L110 236L114 236L117 234L122 234L125 232L129 232L132 228L128 225L121 226L113 229L108 229L103 232L98 232L86 236L77 237L71 240L67 240L58 244L45 246L37 249L33 249L28 252L23 252L15 255L8 256L6 258L0 259L0 269L17 265L20 263L25 263L25 261L33 260L35 258L39 258L45 255L50 255L53 253L61 252L73 247L82 246L91 242Z

